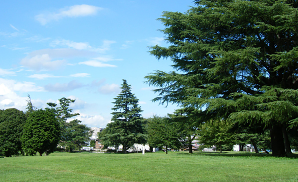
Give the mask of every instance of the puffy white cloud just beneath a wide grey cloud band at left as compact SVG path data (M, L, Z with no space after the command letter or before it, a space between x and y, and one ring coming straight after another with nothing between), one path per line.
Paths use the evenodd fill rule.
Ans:
M49 54L35 55L34 57L25 57L21 60L21 65L26 66L33 70L55 70L59 69L66 61L55 60Z

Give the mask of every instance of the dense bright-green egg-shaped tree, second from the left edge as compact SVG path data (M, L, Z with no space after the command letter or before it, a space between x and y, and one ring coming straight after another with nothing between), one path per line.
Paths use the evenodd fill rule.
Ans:
M60 127L50 110L36 110L28 116L23 129L22 146L28 155L52 153L60 138Z

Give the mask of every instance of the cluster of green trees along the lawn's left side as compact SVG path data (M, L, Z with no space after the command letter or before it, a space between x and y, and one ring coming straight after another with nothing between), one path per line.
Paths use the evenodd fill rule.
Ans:
M26 112L10 108L0 110L0 155L47 155L57 149L72 152L86 145L92 135L90 128L80 120L67 121L73 116L69 104L75 100L59 99L47 103L50 107L37 109L28 96ZM58 146L58 147L57 147Z

